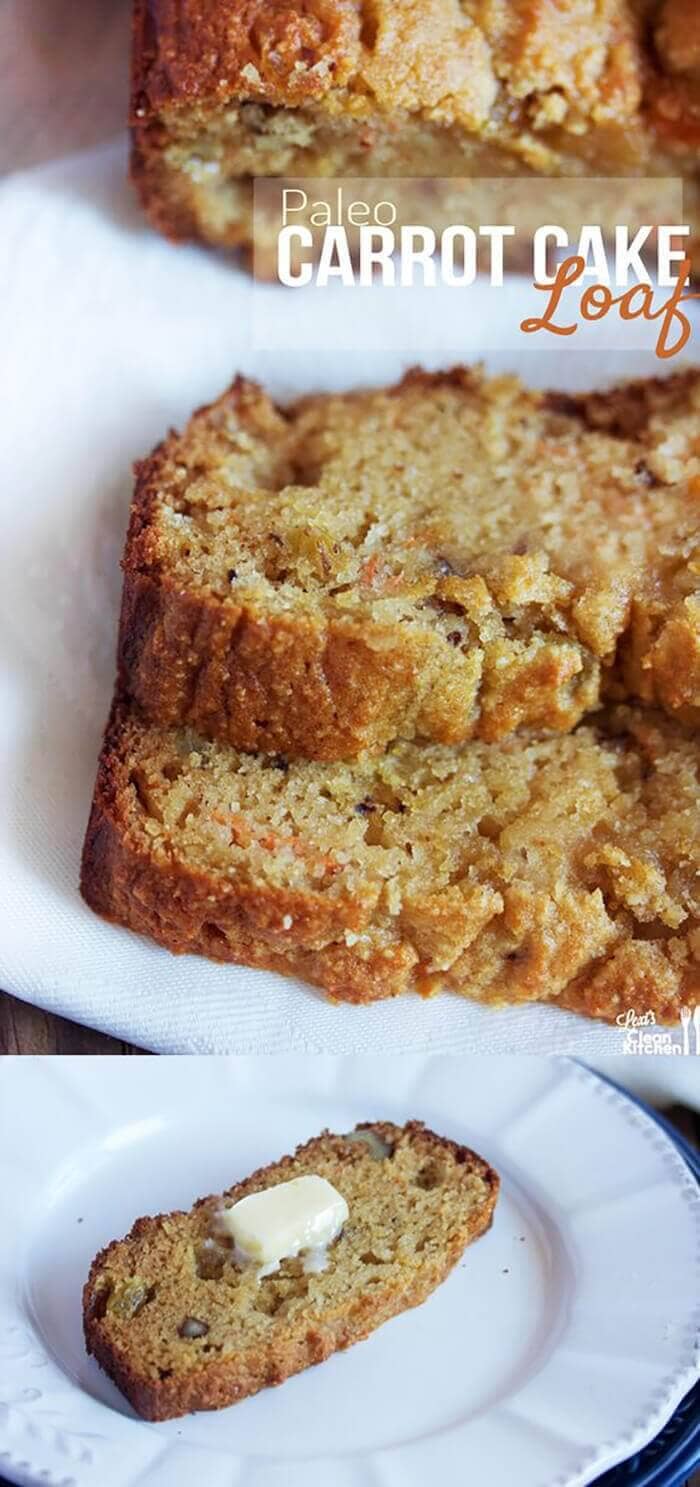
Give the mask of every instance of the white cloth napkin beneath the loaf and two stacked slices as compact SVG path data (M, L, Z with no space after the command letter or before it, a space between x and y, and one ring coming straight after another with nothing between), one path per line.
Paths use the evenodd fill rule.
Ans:
M299 981L177 959L111 928L76 885L134 458L239 370L284 397L482 357L574 388L658 373L651 327L627 327L633 351L614 348L612 326L542 349L514 330L525 280L462 294L254 288L149 230L123 141L9 178L0 226L0 986L169 1053L620 1051L618 1029L547 1007L330 1007Z

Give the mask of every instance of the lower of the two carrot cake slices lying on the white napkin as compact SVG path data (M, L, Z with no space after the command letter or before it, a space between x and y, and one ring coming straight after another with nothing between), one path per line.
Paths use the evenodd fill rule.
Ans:
M116 703L82 891L169 950L334 999L446 987L676 1022L700 992L699 757L627 706L566 736L320 764Z

